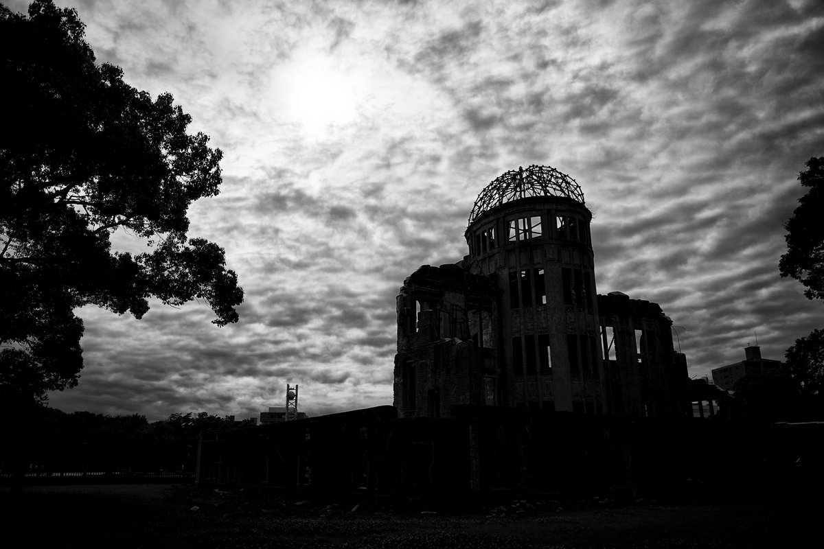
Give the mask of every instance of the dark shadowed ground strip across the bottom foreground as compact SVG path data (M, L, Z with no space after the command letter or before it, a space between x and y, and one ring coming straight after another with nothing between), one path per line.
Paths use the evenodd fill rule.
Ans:
M474 509L301 501L193 485L0 488L3 547L824 547L824 506L792 500L557 501Z

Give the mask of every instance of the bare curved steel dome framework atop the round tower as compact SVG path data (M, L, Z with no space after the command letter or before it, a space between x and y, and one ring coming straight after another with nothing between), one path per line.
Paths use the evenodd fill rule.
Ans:
M569 175L550 166L531 165L526 170L519 167L501 174L480 192L469 225L494 207L528 197L564 197L584 204L581 187Z

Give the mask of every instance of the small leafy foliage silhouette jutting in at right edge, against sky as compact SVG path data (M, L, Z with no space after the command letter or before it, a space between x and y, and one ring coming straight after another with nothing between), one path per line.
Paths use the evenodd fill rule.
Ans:
M807 194L798 198L789 221L784 223L787 235L787 253L781 256L779 269L782 277L793 277L807 289L808 299L824 299L824 156L807 161L807 170L798 174L798 181L808 187Z

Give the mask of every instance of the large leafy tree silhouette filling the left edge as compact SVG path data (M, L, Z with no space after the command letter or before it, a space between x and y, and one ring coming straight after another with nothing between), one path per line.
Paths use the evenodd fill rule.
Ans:
M82 320L98 305L141 318L148 299L204 300L236 322L223 249L189 239L187 208L218 194L222 152L169 94L156 100L97 64L73 9L0 5L0 389L73 387ZM147 252L113 251L122 229Z

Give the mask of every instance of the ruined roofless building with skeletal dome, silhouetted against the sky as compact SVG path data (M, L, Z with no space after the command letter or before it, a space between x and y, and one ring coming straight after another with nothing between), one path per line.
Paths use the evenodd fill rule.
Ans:
M508 171L480 193L470 253L400 288L400 416L448 416L456 404L689 413L672 321L657 304L597 295L591 221L575 180L547 166Z

